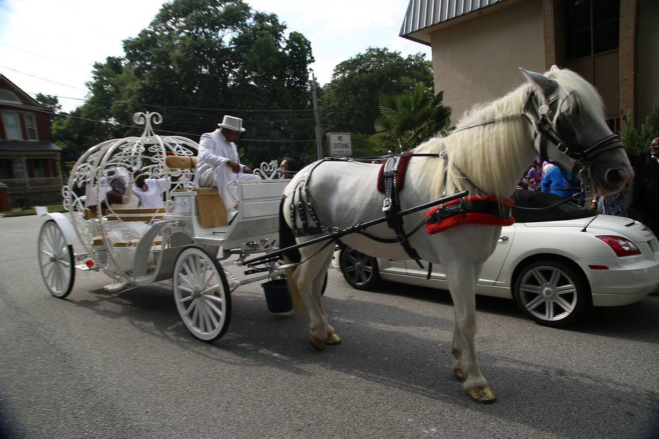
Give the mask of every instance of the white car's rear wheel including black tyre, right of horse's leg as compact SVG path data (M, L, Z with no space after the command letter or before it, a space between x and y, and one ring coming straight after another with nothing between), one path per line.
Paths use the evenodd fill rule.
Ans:
M560 261L535 261L516 278L517 305L535 322L562 327L578 320L592 307L586 276Z

